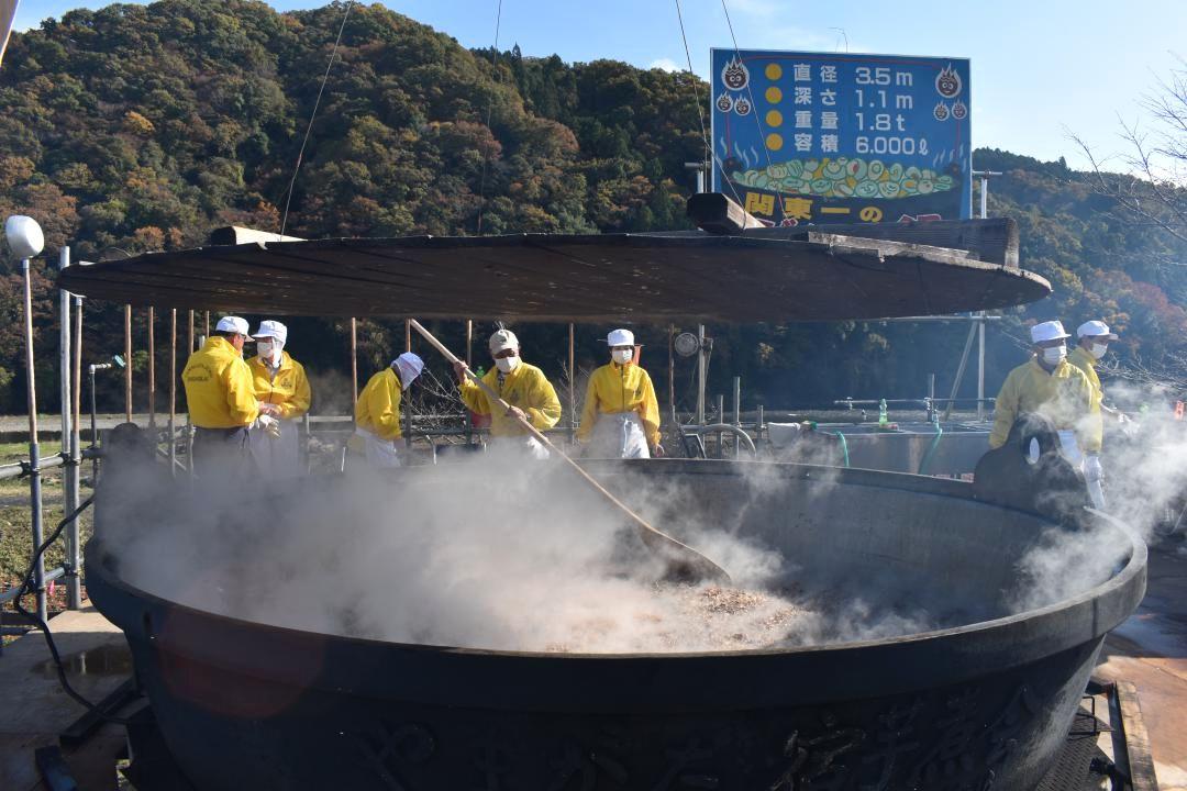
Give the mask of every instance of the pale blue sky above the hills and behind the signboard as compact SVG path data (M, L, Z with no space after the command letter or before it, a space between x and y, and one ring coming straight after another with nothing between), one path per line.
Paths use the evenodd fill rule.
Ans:
M526 56L598 58L687 68L675 0L386 0L394 11L469 47L519 44ZM23 0L17 30L36 27L85 0ZM279 11L325 1L273 0ZM1187 0L681 0L693 70L709 77L711 47L966 57L972 62L976 146L1054 160L1117 162L1121 122L1149 126L1142 98L1185 69ZM723 9L724 7L724 9ZM726 24L726 11L734 36ZM1112 158L1112 159L1110 159ZM976 166L976 162L973 162Z

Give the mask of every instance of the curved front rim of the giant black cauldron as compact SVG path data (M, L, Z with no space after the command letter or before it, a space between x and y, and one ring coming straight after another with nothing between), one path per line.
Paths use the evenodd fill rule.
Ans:
M1005 509L1014 510L1014 509ZM1130 542L1130 554L1125 562L1125 566L1107 580L1097 585L1092 588L1083 591L1075 597L1069 599L1064 599L1054 604L1047 605L1045 607L1039 607L1035 610L1027 610L1020 613L1014 613L1013 615L1007 615L1004 618L995 618L992 620L977 621L975 624L965 624L963 626L953 626L950 629L933 630L929 632L918 632L915 634L902 634L899 637L888 637L876 640L853 640L850 643L826 643L821 645L799 645L782 649L745 649L737 651L673 651L673 652L634 652L634 653L570 653L570 652L553 652L553 651L509 651L509 650L496 650L496 649L476 649L476 648L464 648L464 646L451 646L451 645L430 645L424 643L399 643L395 640L376 640L372 638L362 637L349 637L344 634L330 634L325 632L310 632L306 630L292 629L288 626L277 626L274 624L265 624L253 620L246 620L242 618L234 618L231 615L224 615L222 613L211 612L208 610L198 610L189 605L184 605L169 599L163 599L158 595L142 591L140 588L133 587L132 585L125 582L123 580L116 578L112 573L110 567L104 562L106 553L104 546L101 538L91 538L87 544L87 555L90 557L100 557L96 563L88 562L87 566L94 566L100 569L100 574L106 578L106 583L113 588L121 591L122 593L134 597L137 599L145 600L150 604L157 606L164 606L185 613L197 615L203 619L212 619L217 621L229 621L243 627L249 627L250 630L265 630L269 632L281 633L291 636L294 638L325 638L331 637L336 642L342 640L350 644L360 644L368 646L382 646L386 649L399 649L406 651L417 652L433 652L433 653L451 653L451 655L465 655L465 656L488 656L488 657L504 657L508 659L525 658L525 659L553 659L553 661L580 661L590 662L597 661L603 663L612 662L629 662L637 659L692 659L692 658L706 658L706 657L772 657L772 656L788 656L788 655L806 655L806 653L824 653L824 652L836 652L836 651L850 651L858 649L868 649L872 646L884 646L884 645L903 645L912 643L923 643L928 640L937 640L946 637L952 637L957 634L970 634L978 632L988 632L991 630L1010 626L1018 624L1024 620L1039 619L1045 615L1059 612L1061 610L1071 610L1078 605L1085 604L1092 599L1098 599L1105 597L1106 594L1125 587L1137 574L1145 568L1147 563L1147 547L1145 542L1141 541L1136 532L1134 532L1124 523L1115 519L1107 513L1093 512L1098 519L1104 521L1113 530L1119 532L1122 536L1129 538ZM107 574L104 574L104 572ZM1116 625L1110 625L1107 629L1100 630L1103 634L1109 629ZM1065 648L1071 648L1075 644L1075 640L1068 642Z

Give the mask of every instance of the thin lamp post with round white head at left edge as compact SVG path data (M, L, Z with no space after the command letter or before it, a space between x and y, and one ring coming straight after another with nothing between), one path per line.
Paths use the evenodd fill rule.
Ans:
M20 259L25 279L25 378L28 408L28 503L33 532L33 588L37 594L37 617L45 620L45 563L37 550L42 546L42 448L37 441L37 385L33 379L33 287L28 260L45 248L42 227L32 217L14 215L4 224L8 249Z

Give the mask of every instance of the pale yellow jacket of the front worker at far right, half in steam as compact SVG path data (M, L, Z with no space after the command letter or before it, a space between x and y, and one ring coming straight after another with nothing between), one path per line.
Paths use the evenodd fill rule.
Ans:
M1096 397L1084 371L1066 359L1048 374L1034 357L1018 365L1002 384L994 407L994 430L989 447L1005 445L1010 427L1023 413L1039 413L1055 423L1056 429L1074 429L1084 453L1100 452L1100 436L1093 435L1085 421L1092 414ZM1099 415L1099 412L1098 412Z

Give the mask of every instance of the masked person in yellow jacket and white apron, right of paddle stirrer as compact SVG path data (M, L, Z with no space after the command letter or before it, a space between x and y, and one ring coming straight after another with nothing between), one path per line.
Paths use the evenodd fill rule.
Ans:
M610 363L590 376L577 441L589 442L585 455L594 458L664 455L660 404L652 377L635 364L635 333L615 330L605 343Z

